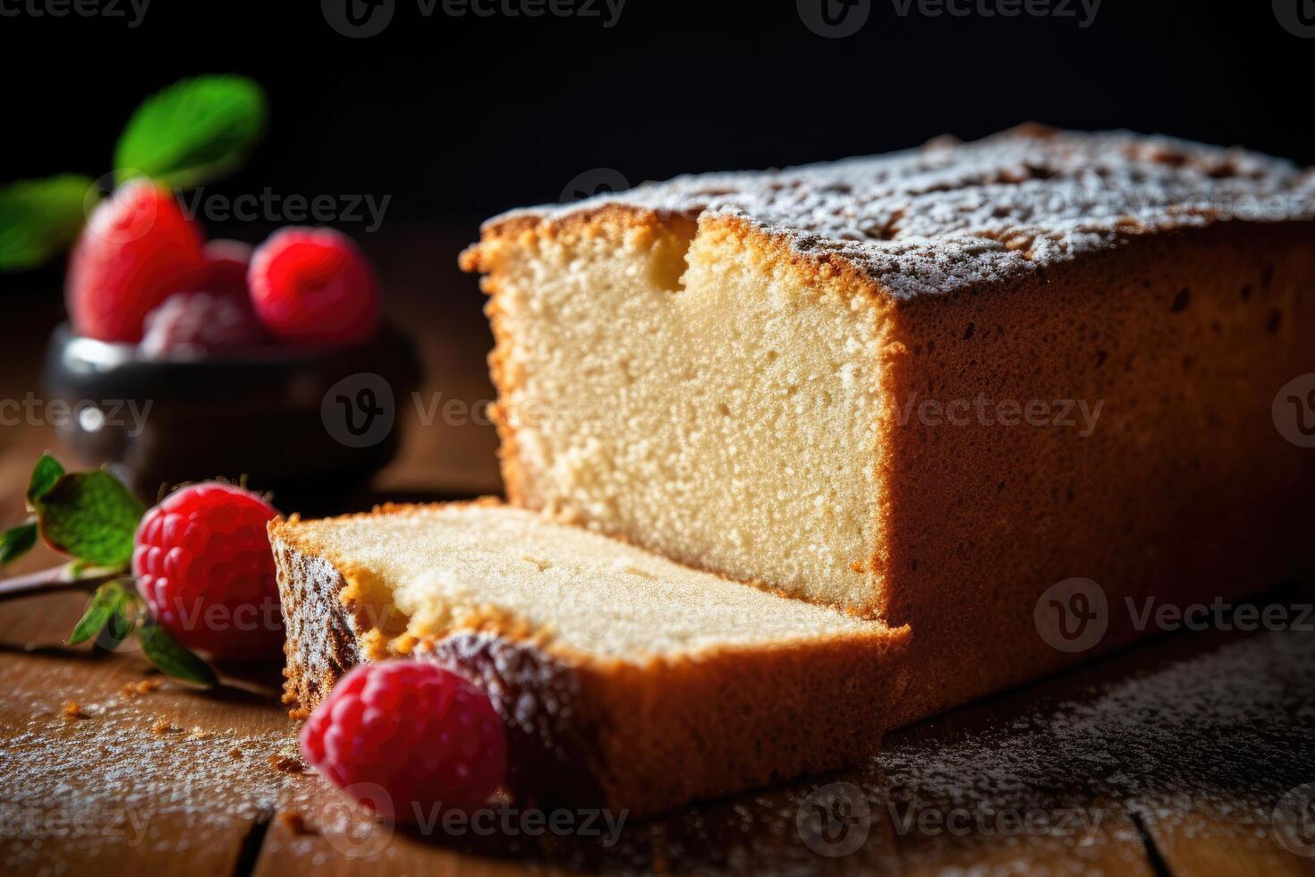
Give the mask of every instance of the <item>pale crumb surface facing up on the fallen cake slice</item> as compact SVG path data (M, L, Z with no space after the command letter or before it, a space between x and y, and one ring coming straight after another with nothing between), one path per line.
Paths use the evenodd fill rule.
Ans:
M341 573L339 600L377 656L463 631L630 663L889 632L496 504L394 506L270 533Z

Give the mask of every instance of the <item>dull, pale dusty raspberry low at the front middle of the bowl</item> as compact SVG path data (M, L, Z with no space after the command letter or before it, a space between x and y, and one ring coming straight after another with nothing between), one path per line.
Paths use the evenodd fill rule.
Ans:
M204 356L259 344L264 329L246 298L210 292L179 292L146 314L142 356Z

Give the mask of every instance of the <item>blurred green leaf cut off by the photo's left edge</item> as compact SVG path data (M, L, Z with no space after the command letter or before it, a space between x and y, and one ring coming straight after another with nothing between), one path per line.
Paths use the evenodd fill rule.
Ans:
M0 271L21 271L59 255L87 221L95 181L78 174L18 180L0 188Z

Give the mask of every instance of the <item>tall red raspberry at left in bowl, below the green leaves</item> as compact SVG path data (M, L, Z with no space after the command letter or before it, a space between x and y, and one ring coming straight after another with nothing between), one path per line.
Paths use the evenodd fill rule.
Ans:
M74 331L138 342L146 314L205 277L201 235L174 196L133 180L101 201L78 238L64 297Z

